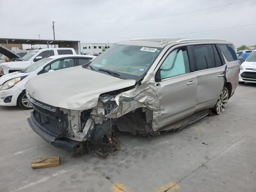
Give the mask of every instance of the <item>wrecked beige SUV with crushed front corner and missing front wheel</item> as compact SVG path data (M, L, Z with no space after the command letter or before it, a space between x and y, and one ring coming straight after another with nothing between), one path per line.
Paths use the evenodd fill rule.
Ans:
M86 65L30 79L28 123L58 148L106 156L118 148L118 131L150 136L221 114L238 73L234 46L224 40L124 41Z

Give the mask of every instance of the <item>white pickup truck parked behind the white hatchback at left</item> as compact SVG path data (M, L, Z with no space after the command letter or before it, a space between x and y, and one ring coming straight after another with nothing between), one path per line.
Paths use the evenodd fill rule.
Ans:
M23 70L24 68L30 66L34 62L54 55L64 55L64 54L76 54L73 48L45 48L40 50L33 50L30 53L22 57L22 61L2 63L3 75Z

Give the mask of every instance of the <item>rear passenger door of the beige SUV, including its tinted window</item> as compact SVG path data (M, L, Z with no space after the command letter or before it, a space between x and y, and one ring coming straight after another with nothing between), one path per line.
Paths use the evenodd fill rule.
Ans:
M195 112L213 107L224 86L226 65L214 44L192 45L197 76Z

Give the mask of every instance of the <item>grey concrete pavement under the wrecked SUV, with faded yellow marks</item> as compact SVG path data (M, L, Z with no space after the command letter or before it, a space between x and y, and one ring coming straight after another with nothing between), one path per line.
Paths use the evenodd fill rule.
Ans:
M239 85L220 116L151 138L121 133L105 159L74 158L31 130L30 111L0 107L0 192L255 192L255 96L256 84ZM60 166L30 168L55 155Z

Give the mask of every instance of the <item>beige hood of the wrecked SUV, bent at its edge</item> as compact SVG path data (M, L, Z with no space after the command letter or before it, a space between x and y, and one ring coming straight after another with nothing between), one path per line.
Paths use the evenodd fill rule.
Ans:
M135 83L135 80L123 80L77 66L33 77L25 88L32 98L45 104L86 110L97 105L100 94Z

